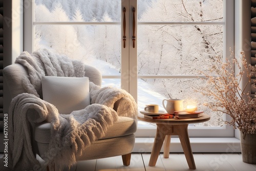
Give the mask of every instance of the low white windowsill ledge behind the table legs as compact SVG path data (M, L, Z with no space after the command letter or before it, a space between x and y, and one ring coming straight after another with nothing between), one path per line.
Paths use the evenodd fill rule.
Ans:
M234 137L190 137L189 140L193 153L241 153L240 140ZM151 153L153 144L154 137L136 137L133 152ZM170 153L183 153L178 137L171 138Z

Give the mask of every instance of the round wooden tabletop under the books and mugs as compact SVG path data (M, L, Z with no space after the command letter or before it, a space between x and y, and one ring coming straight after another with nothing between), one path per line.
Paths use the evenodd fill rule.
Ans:
M165 123L165 124L189 124L189 123L200 123L200 122L206 122L210 120L210 116L207 114L203 114L203 116L198 118L171 118L171 119L150 119L145 118L143 114L138 114L138 119L145 121L145 122L152 122L152 123Z

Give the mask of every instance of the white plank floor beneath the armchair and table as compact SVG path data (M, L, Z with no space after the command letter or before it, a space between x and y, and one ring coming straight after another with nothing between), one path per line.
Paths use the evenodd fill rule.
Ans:
M150 153L133 153L130 166L122 165L121 156L98 160L80 161L74 165L72 171L160 171L160 170L190 170L183 153L170 153L169 158L163 158L161 153L156 166L148 166ZM1 156L2 157L2 156ZM247 164L242 161L239 153L194 153L197 171L251 171L256 170L256 164Z

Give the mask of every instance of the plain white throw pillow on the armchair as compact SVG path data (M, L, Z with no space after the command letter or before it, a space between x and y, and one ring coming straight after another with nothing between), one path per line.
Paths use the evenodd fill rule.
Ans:
M42 98L60 114L70 114L90 105L88 77L42 77Z

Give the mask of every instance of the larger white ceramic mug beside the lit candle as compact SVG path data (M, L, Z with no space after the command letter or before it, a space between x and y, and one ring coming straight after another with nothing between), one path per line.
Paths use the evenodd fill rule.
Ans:
M183 111L183 101L181 99L163 99L163 108L168 114L174 114L174 111Z

